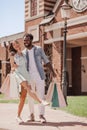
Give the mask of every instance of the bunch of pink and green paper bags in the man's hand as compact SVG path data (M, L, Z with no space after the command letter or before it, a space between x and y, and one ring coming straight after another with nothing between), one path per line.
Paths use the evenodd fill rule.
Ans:
M52 108L65 107L66 102L60 86L56 80L52 81L46 96L46 100L51 102Z

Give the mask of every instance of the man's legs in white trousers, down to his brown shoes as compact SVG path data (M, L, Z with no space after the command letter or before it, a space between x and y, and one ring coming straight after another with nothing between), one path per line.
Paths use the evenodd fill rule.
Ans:
M45 98L45 82L44 82L44 80L41 80L41 79L36 80L35 86L32 85L33 91L35 91L35 87L36 87L36 92L37 92L39 98L44 100L44 98ZM29 106L29 111L30 111L30 118L27 121L34 121L34 101L30 96L28 96L28 106ZM39 109L40 121L42 123L46 122L46 119L44 118L45 106L42 104L39 104L38 109Z

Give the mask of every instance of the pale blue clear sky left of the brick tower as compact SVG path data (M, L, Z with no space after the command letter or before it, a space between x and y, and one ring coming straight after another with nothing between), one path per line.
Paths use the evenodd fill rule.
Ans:
M24 31L24 1L0 0L0 38Z

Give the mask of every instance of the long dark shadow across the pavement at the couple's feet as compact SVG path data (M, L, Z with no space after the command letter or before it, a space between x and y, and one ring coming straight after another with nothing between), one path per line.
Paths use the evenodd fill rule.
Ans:
M75 125L80 125L80 126L87 126L87 123L82 123L82 122L46 122L46 123L40 123L40 122L23 122L20 123L20 125L32 125L32 126L54 126L54 127L63 127L63 126L75 126Z

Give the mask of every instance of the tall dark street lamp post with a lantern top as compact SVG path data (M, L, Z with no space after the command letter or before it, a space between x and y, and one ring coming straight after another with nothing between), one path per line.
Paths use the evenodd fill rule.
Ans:
M61 16L64 19L64 42L63 42L63 71L62 71L62 90L65 101L67 103L67 85L68 85L68 72L66 67L66 38L67 38L67 19L70 17L71 6L64 2L61 6Z

